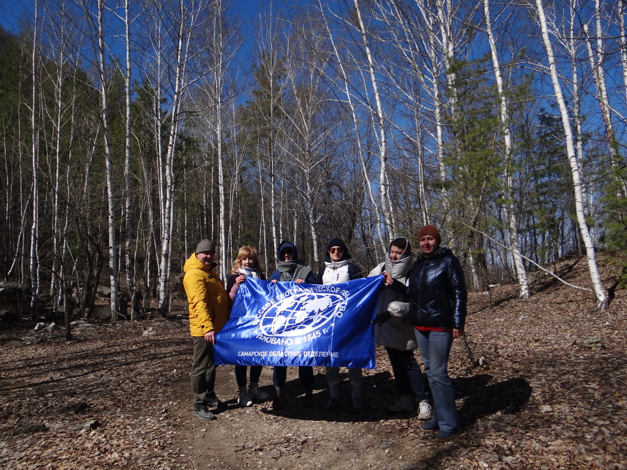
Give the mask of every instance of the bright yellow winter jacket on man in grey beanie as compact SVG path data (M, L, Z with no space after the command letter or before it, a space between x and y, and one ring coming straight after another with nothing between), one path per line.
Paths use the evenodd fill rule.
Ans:
M201 263L196 254L183 266L183 286L189 302L189 330L194 337L215 330L218 333L229 316L224 285L212 268Z

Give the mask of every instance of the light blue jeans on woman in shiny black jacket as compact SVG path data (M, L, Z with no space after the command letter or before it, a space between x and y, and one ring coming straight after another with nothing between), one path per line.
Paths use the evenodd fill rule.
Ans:
M460 419L455 405L453 382L446 370L448 353L453 344L453 332L416 330L416 340L433 395L433 421L440 426L441 431L459 431Z

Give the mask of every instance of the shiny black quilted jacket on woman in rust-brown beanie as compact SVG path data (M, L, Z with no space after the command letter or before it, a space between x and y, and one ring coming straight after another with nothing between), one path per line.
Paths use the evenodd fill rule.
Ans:
M391 286L409 300L409 320L415 326L463 328L466 323L466 282L460 261L442 246L425 258L418 256L409 272L409 285Z

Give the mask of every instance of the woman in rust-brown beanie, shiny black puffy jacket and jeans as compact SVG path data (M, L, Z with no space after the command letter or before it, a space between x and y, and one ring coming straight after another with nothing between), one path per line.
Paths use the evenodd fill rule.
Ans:
M387 285L409 301L409 320L416 330L433 394L433 419L422 429L440 429L436 439L447 439L461 431L453 382L446 367L453 338L464 334L468 295L460 261L450 249L440 246L438 229L424 226L418 241L423 253L409 273L409 285L384 274Z

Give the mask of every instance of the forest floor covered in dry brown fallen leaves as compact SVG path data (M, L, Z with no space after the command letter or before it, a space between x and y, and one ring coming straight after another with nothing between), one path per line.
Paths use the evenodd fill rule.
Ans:
M288 369L285 409L236 404L233 367L217 369L226 407L214 421L192 416L191 339L182 318L33 332L0 326L0 467L3 469L575 469L627 467L627 293L619 268L599 256L612 298L594 310L590 293L544 278L532 297L517 286L470 294L470 368L459 340L453 377L464 432L436 442L414 414L394 414L387 355L364 370L362 413L322 410L328 392L316 367L317 407L302 407L297 368ZM557 265L589 286L585 258ZM156 334L143 336L148 326ZM416 354L418 357L419 355ZM345 372L345 371L344 371ZM345 378L345 375L344 375ZM260 385L268 393L271 368ZM95 421L95 422L93 422ZM84 428L84 429L83 429Z

